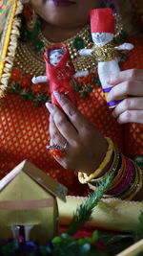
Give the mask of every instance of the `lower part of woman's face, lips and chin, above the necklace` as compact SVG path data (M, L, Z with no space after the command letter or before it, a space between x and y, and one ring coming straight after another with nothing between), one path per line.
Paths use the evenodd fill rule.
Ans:
M100 0L30 0L32 8L45 21L62 28L78 28L90 20L89 11Z

